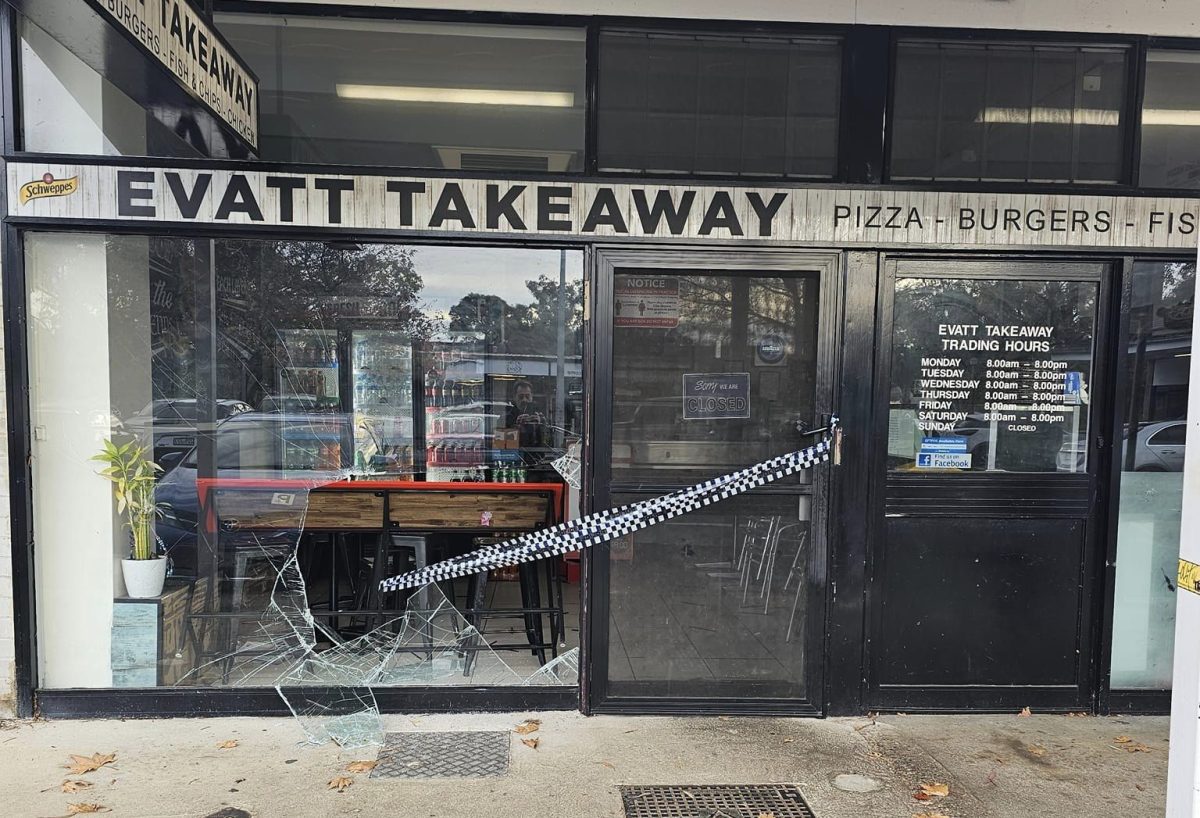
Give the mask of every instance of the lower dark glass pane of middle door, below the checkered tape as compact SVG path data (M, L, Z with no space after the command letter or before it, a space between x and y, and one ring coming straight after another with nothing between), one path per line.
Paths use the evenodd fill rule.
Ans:
M608 692L804 697L804 517L796 497L743 495L613 541Z

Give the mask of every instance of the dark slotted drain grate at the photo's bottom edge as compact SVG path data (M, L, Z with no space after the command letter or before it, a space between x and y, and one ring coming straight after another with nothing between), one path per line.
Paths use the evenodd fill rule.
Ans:
M622 787L625 818L815 818L792 784Z

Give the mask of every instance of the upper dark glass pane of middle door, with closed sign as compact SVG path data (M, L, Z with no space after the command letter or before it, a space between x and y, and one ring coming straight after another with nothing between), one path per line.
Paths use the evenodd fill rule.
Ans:
M613 299L614 482L690 485L808 445L816 277L630 269ZM698 379L739 409L694 408Z

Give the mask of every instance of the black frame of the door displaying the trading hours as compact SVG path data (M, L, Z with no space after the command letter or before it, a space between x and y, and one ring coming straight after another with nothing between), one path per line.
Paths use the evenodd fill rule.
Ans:
M1097 284L1096 325L1092 339L1092 404L1090 407L1088 427L1088 473L1085 481L1076 481L1075 494L1086 498L1088 513L1086 516L1085 545L1080 571L1081 597L1078 612L1076 645L1076 684L1063 686L896 686L884 685L878 678L876 656L868 649L863 670L865 675L864 705L869 709L899 709L913 712L932 711L1012 711L1022 706L1042 710L1094 712L1098 706L1097 693L1100 687L1103 668L1100 658L1104 655L1100 638L1103 637L1105 552L1108 547L1108 515L1111 474L1112 440L1109 433L1109 420L1114 413L1115 360L1111 354L1115 332L1120 315L1120 287L1122 259L1112 255L962 255L929 253L889 253L881 257L880 287L877 301L876 333L877 354L875 361L875 393L887 396L890 389L893 306L895 300L895 281L901 264L926 264L928 276L940 278L985 278L985 279L1024 279L1024 281L1082 281ZM1058 267L1056 270L1056 267ZM1087 269L1091 267L1092 272ZM923 273L926 275L926 273ZM876 399L872 408L871 437L878 441L870 458L871 499L871 536L870 564L865 578L866 632L868 648L880 632L882 620L882 601L880 600L880 572L884 570L883 527L887 513L888 473L887 473L887 435L888 404ZM902 477L898 482L916 486L928 485L941 493L943 498L954 498L956 486L950 481L960 475L923 477ZM1052 482L1060 475L994 475L997 487L994 492L997 499L1006 491L1026 483L1031 479L1040 481L1045 491L1055 491ZM1063 493L1066 498L1066 493ZM1012 512L1008 512L1012 513Z

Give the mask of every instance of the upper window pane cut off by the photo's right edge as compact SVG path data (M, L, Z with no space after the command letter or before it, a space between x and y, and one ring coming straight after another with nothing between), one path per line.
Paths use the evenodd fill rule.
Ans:
M1200 187L1200 52L1150 52L1141 112L1145 187Z

